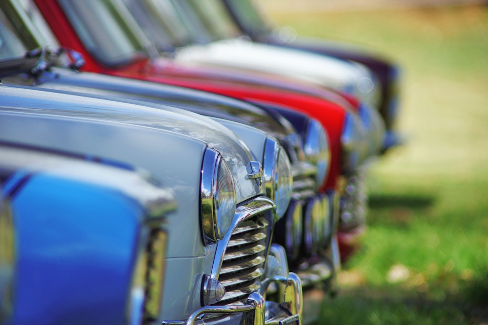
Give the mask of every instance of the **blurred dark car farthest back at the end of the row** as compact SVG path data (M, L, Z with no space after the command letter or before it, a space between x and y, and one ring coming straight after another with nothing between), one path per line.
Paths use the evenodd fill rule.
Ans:
M379 111L386 126L383 150L386 151L388 148L402 143L402 137L395 131L400 108L400 69L391 60L382 55L373 54L370 49L351 43L297 37L291 27L277 27L266 19L265 13L259 10L256 1L218 1L224 2L228 14L232 17L230 19L227 13L221 10L213 12L215 15L219 15L221 22L226 23L226 28L223 30L226 33L238 28L240 32L235 32L236 34L243 33L255 42L352 60L368 67L378 77L381 86Z

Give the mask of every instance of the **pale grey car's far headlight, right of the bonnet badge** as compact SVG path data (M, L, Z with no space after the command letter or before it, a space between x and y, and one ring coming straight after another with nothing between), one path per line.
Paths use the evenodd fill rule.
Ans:
M276 214L281 218L290 202L293 177L285 149L269 137L264 147L263 172L266 196L275 202Z

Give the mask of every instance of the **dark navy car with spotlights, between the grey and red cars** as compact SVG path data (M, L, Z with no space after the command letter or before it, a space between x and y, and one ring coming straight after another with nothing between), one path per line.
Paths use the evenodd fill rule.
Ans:
M14 15L10 14L10 16ZM25 27L25 30L27 29ZM57 56L47 55L44 57L45 71L39 71L36 76L32 76L26 72L36 66L36 59L30 63L30 67L27 63L28 58L24 59L23 62L20 62L19 59L17 60L19 63L17 69L13 66L8 71L1 71L0 69L0 76L4 83L30 84L49 89L164 103L213 116L221 124L240 135L252 151L258 154L262 163L264 157L261 153L264 142L259 140L255 134L250 134L248 128L234 122L254 125L278 138L292 163L294 186L288 210L286 212L283 209L277 211L279 216L285 214L285 217L277 224L278 231L274 236L275 241L285 246L290 268L300 271L299 275L306 285L331 281L339 268L338 258L334 256L338 254L337 245L330 245L331 240L336 241L333 238L332 229L334 228L332 227L337 225L337 221L331 220L331 216L338 215L337 212L334 212L337 210L338 195L334 191L320 194L316 192L317 183L322 184L327 176L329 164L325 131L317 121L298 113L296 114L298 117L294 117L294 119L300 119L300 135L306 149L304 153L299 134L296 134L289 122L281 115L276 114L275 111L273 111L273 115L270 115L256 106L241 101L189 89L113 76L75 73L67 69L55 68L51 65L56 62ZM164 110L172 109L161 105L158 107ZM307 158L313 165L305 162L304 158ZM266 183L267 195L275 197L275 190L269 188L269 185L269 182ZM279 206L285 207L284 204ZM302 214L305 219L305 227L302 225ZM302 229L307 240L303 245L305 254L300 256L302 252ZM319 251L324 258L321 260L314 258L313 268L297 269L298 265L303 265L305 260L310 259ZM312 263L309 262L308 265L310 264ZM320 276L317 276L318 274Z

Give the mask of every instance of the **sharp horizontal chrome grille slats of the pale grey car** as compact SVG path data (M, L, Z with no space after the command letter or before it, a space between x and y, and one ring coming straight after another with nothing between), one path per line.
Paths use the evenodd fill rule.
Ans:
M264 215L258 214L245 219L232 232L219 273L225 295L218 305L235 304L259 289L264 274L269 227Z

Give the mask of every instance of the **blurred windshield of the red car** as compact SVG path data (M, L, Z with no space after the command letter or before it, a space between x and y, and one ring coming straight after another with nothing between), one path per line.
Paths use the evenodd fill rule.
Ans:
M87 50L107 65L146 53L149 41L121 0L59 0Z

